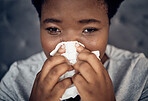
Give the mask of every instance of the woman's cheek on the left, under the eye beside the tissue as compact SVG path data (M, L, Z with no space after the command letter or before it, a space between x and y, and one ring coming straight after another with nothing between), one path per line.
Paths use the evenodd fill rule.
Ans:
M40 33L41 33L40 38L41 38L41 45L42 45L43 51L45 52L46 57L49 58L50 52L54 50L56 45L60 42L60 39L50 37L43 30L41 30Z

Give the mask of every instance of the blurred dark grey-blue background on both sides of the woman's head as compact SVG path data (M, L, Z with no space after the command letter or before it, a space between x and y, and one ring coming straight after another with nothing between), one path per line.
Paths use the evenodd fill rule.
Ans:
M148 57L148 0L125 0L111 21L109 44ZM0 0L0 80L17 60L42 51L31 0Z

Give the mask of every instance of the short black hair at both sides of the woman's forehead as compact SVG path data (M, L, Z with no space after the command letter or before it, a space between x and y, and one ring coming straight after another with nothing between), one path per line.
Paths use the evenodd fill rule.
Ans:
M32 4L36 8L39 18L41 18L41 8L44 1L45 0L32 0ZM109 22L110 19L116 14L120 4L123 1L124 0L104 0L104 3L107 5Z

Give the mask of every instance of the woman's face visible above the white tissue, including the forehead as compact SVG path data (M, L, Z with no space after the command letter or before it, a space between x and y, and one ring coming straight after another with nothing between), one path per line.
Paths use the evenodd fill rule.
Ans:
M98 0L46 0L41 12L41 44L47 56L62 41L78 41L103 57L109 22Z

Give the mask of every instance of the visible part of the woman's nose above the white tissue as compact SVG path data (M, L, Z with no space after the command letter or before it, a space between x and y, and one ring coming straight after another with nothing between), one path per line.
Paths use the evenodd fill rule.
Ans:
M67 31L63 34L61 41L80 41L80 35L76 31Z

